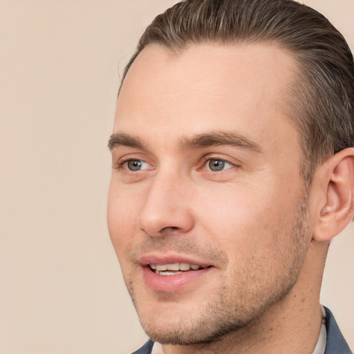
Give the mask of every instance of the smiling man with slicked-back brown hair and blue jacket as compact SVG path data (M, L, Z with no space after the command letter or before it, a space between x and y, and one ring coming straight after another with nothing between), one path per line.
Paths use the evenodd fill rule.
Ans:
M136 353L351 353L319 304L354 216L354 65L288 0L189 0L145 30L109 140Z

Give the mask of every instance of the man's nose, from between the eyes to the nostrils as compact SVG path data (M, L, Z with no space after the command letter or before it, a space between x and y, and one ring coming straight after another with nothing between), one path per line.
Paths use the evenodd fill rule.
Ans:
M192 230L192 190L187 180L176 174L158 173L145 192L137 218L140 230L156 237Z

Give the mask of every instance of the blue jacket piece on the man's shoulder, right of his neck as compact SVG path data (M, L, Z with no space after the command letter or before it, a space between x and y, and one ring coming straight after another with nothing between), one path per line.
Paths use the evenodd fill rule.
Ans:
M335 322L335 317L333 317L328 308L325 307L324 309L326 310L327 330L326 350L324 354L352 354L351 348L349 348L337 322Z

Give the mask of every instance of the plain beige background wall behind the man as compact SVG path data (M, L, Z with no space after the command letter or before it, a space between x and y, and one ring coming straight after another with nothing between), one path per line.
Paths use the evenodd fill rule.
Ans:
M130 353L145 341L106 230L119 73L172 0L0 0L0 354ZM354 48L354 0L313 0ZM354 348L354 229L322 301Z

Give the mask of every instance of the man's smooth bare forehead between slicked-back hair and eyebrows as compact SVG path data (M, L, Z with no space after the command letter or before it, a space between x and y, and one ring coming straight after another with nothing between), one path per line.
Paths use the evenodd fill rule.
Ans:
M282 108L294 73L290 53L274 44L148 46L124 80L113 131L171 139L231 129L262 140L271 129L281 140L296 134Z

